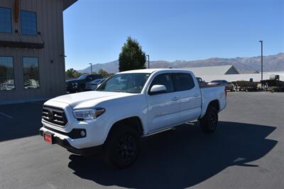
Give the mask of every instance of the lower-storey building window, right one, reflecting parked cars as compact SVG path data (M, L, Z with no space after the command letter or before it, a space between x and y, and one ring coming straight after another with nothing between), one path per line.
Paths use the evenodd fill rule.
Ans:
M26 90L40 87L38 58L23 57L23 87Z

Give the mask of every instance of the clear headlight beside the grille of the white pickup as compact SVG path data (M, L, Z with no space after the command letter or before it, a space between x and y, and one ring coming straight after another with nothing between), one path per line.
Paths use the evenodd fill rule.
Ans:
M105 111L106 109L104 108L79 109L73 111L73 114L76 119L92 120L104 114Z

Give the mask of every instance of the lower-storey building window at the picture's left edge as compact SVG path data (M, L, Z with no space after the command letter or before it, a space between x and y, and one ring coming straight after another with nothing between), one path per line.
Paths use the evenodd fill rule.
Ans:
M13 57L0 57L0 90L15 89Z

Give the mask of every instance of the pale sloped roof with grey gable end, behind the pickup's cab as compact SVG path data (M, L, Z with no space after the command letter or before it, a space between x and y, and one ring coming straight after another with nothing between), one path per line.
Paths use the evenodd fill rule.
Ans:
M182 70L190 70L196 76L239 74L238 70L236 70L233 65L182 68Z

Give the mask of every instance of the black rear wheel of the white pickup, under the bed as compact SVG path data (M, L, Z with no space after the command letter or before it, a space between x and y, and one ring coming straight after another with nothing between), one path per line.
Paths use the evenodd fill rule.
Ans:
M204 133L212 133L218 125L218 111L215 107L209 106L206 114L200 119L200 126Z

